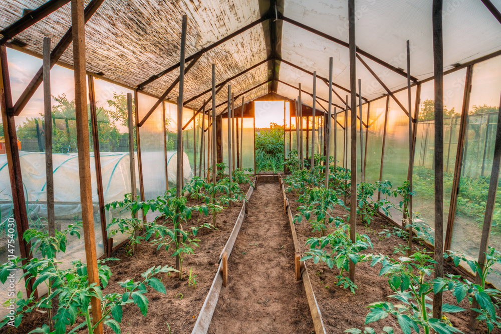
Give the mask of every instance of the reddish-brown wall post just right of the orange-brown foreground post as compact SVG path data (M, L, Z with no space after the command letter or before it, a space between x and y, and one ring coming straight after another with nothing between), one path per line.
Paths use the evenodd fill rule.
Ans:
M97 195L99 201L99 218L101 220L101 236L103 238L104 253L108 254L108 232L106 231L106 212L104 210L103 174L101 171L101 151L99 149L99 131L97 125L96 93L94 91L94 77L89 75L89 107L92 125L92 143L94 145L94 163L96 167ZM46 82L44 80L44 87ZM138 244L137 244L138 245Z

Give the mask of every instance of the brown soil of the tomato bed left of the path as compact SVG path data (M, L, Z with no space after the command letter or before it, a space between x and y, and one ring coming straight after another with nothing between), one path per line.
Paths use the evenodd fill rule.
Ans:
M249 185L241 185L242 191L247 192ZM188 205L200 204L196 200L188 200ZM151 334L151 333L191 333L195 324L198 312L205 300L205 296L212 284L214 275L217 271L216 262L226 240L231 234L238 214L241 210L241 203L232 204L230 208L224 209L217 215L217 230L202 228L198 231L197 238L200 239L198 245L194 247L195 254L186 255L183 261L183 275L185 279L179 281L174 274L157 274L155 277L162 280L167 290L167 294L157 292L148 287L148 313L145 316L141 313L136 304L123 306L123 317L120 325L122 333L133 334ZM212 223L212 217L204 216L199 212L193 212L192 218L183 228L189 229L190 226L198 226L203 223ZM141 273L152 266L171 265L175 267L175 257L170 255L173 249L165 252L165 248L156 251L156 246L143 242L141 249L136 254L129 256L125 250L126 245L113 252L113 257L121 258L118 261L110 261L113 275L109 280L108 286L103 293L119 292L124 289L118 285L127 279L134 281L141 280ZM192 275L196 274L196 286L188 285L188 276L190 268ZM84 317L77 319L77 324L85 321ZM41 327L48 323L47 313L34 311L29 313L23 319L20 327L4 327L0 329L0 334L15 333L25 334L31 330ZM79 333L88 332L87 329L78 331ZM113 331L105 326L105 333L111 334Z

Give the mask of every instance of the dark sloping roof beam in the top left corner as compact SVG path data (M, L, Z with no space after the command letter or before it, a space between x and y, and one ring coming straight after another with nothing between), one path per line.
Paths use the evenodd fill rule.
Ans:
M22 31L33 26L49 14L57 11L64 5L68 4L70 0L49 0L39 8L24 15L21 19L10 25L9 27L0 31L4 37L0 40L0 45L4 45L7 41L18 35Z

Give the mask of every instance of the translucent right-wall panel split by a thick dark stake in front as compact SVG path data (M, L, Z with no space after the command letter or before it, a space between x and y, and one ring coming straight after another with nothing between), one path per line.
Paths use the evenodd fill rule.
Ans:
M466 70L456 71L444 77L443 115L443 211L447 221L452 192L452 178L457 152L460 113L464 95ZM430 187L435 178L435 121L434 121L434 81L421 85L421 95L416 127L416 144L413 168L413 211L430 227L435 226L434 190Z

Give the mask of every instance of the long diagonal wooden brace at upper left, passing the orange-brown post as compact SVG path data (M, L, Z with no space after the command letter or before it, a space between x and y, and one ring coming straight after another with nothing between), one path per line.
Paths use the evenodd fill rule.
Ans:
M84 16L85 16L85 23L89 21L89 19L92 17L94 13L96 13L97 9L101 4L103 3L104 0L91 0L89 5L85 8L84 11ZM84 24L85 24L84 23ZM65 50L68 48L68 46L71 44L73 41L73 33L72 33L72 27L68 29L66 34L63 36L61 41L54 47L54 50L51 52L51 68L57 63L59 58L63 55ZM21 96L19 97L18 101L16 101L16 104L14 105L14 114L16 116L19 116L21 111L26 107L26 104L28 101L30 101L31 97L35 92L37 91L38 87L42 83L43 80L43 67L38 70L37 74L33 77L31 82L28 84L28 86L25 88Z

